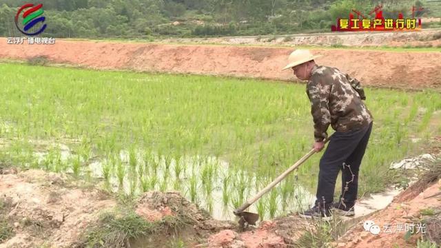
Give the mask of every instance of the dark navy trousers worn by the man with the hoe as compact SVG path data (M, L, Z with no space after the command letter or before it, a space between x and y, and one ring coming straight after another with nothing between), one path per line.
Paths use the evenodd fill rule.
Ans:
M358 192L358 170L365 155L372 123L360 130L335 132L320 159L316 205L329 207L334 200L338 172L342 171L340 201L353 207Z

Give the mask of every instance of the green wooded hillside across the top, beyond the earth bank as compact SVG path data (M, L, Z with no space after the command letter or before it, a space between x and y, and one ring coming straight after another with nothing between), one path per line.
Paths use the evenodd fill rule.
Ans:
M411 17L412 6L424 10L416 16L440 17L440 7L424 0L383 0L385 18L398 12ZM14 23L24 0L3 0L0 6L0 35L17 37ZM338 18L352 9L365 16L378 1L361 0L45 0L46 37L139 38L205 37L296 32L329 32ZM424 28L439 27L427 23Z

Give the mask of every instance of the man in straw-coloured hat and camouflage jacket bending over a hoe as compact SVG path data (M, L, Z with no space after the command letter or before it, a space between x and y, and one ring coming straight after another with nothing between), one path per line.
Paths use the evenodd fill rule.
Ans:
M331 211L353 216L358 171L371 134L372 116L362 102L366 96L360 82L337 68L317 65L314 59L319 56L314 56L309 50L295 50L289 55L288 65L283 68L291 68L298 79L307 81L316 152L325 146L329 124L336 130L320 159L316 203L300 216L329 218ZM342 194L333 204L340 170Z

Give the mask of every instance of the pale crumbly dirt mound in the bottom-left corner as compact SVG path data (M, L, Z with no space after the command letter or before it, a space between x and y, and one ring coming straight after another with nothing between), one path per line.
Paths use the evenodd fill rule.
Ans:
M70 188L61 174L3 171L0 200L13 235L0 247L70 247L96 213L115 201L98 189Z

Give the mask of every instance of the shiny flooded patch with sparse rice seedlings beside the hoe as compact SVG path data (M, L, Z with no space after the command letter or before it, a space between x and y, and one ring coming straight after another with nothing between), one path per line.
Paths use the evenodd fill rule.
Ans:
M83 157L70 153L66 145L57 152L34 152L41 167L64 164L61 170L100 178L106 189L138 196L148 191L177 191L218 220L234 220L234 209L245 203L274 178L232 168L214 156L163 156L141 150L121 150L105 159L93 158L87 167ZM77 171L76 171L77 170ZM302 187L296 174L282 181L247 211L262 220L307 209L315 196Z

